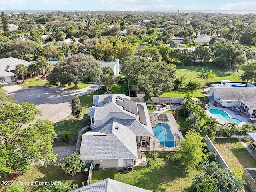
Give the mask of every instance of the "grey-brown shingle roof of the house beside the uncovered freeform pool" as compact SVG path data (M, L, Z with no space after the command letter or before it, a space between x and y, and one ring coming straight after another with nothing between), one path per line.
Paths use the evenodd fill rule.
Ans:
M238 101L239 98L254 98L255 87L215 88L223 101Z

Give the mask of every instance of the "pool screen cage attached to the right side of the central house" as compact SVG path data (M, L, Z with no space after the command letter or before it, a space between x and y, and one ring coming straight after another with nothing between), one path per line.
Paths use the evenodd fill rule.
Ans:
M184 137L172 113L150 113L150 122L154 136L150 138L150 150L173 151L176 142L184 141ZM166 124L168 125L166 128ZM162 130L155 130L156 126L162 126ZM170 127L170 129L169 129Z

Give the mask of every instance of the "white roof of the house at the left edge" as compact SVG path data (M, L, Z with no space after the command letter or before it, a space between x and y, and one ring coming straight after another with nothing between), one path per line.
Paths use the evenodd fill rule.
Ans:
M15 66L18 64L24 64L28 66L31 63L28 61L24 61L24 60L13 58L13 57L2 58L0 59L0 70L2 71L6 70L7 65L9 65L10 67L8 68L8 71L12 71L12 70L15 70Z

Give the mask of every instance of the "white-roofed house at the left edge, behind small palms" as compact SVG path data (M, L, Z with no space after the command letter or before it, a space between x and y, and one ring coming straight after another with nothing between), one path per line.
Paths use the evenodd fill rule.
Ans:
M15 67L18 64L24 64L28 66L31 63L13 57L0 59L0 76L5 78L6 83L15 81L15 78L17 77L17 74L15 73Z

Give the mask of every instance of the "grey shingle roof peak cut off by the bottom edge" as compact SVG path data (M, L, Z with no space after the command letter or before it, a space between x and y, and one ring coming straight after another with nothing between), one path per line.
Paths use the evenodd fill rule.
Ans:
M110 178L72 190L70 192L150 192Z

